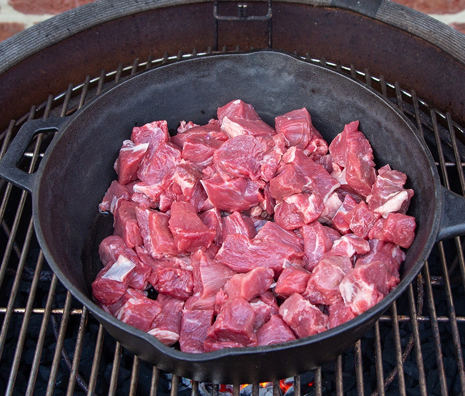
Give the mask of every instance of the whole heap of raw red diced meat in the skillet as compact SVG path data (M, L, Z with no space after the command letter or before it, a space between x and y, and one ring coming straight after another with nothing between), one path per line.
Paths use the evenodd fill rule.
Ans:
M414 192L374 168L358 127L328 147L305 108L272 128L241 100L173 137L166 121L135 127L99 205L114 235L95 301L191 353L308 337L371 308L399 283Z

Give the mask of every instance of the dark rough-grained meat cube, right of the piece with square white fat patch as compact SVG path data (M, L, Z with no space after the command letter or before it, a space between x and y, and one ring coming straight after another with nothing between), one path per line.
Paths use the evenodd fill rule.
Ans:
M165 265L159 265L156 271L158 278L156 290L160 293L181 299L192 296L194 285L191 271Z

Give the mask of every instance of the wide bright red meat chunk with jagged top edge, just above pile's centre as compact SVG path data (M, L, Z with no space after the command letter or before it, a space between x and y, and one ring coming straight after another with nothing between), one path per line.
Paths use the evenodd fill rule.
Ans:
M259 191L264 183L259 181L242 177L227 181L220 175L215 175L201 183L212 205L227 212L247 210L264 199Z

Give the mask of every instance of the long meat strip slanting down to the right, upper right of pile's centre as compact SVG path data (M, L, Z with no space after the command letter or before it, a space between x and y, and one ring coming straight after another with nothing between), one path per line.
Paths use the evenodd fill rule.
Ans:
M339 183L331 177L326 169L309 158L298 148L289 148L281 158L283 163L293 165L296 171L306 180L304 192L318 192L323 201L339 187Z

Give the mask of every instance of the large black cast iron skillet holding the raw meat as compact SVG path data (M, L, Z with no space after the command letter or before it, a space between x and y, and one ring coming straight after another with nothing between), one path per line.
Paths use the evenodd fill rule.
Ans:
M116 178L113 163L132 128L166 119L205 124L233 99L253 104L262 119L305 106L329 142L344 124L360 120L376 166L389 163L408 175L415 190L409 214L417 233L398 287L379 304L325 333L285 344L187 354L166 347L100 309L90 284L102 267L95 253L111 233L111 216L97 205ZM31 138L57 134L39 170L26 174L18 161ZM162 370L198 381L234 384L278 380L314 369L359 340L418 274L434 243L465 233L465 198L441 187L431 154L418 131L371 88L294 55L260 50L213 54L144 71L107 90L74 115L27 122L0 163L0 174L33 197L37 237L64 286L124 347ZM108 220L108 218L110 220Z

